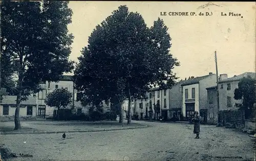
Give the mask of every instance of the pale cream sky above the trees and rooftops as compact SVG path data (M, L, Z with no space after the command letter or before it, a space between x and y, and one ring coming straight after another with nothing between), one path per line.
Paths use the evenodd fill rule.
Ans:
M208 5L207 5L208 4ZM70 59L78 61L88 37L106 17L126 5L138 12L151 27L160 17L172 38L170 53L180 62L174 72L184 79L216 73L214 53L217 51L218 74L228 77L255 72L255 3L253 2L100 2L71 1L73 10L69 32L74 35ZM166 12L166 16L161 15ZM195 12L197 16L169 16L169 12ZM199 13L212 13L199 16ZM224 13L240 16L221 16ZM72 75L72 73L69 73Z

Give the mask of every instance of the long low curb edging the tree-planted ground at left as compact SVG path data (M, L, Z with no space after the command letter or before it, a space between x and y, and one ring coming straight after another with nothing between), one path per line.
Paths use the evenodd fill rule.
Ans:
M102 130L76 130L76 131L24 131L24 132L0 132L0 135L15 135L15 134L43 134L43 133L70 133L70 132L99 132L99 131L117 131L126 129L146 128L147 125L137 127L125 127L125 128L114 128L114 129L102 129Z

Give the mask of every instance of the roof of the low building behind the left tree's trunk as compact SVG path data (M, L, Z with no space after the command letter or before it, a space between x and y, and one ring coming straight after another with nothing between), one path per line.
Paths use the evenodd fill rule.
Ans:
M1 104L16 104L17 96L3 96L3 100ZM36 105L36 97L29 96L29 99L26 101L22 101L20 104L23 105Z

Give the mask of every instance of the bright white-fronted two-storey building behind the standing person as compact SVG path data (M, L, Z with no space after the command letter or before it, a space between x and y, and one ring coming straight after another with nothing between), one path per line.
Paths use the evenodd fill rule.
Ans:
M207 121L207 90L217 85L217 76L211 72L200 77L191 77L182 86L182 114L184 120L189 120L198 111L204 121Z

